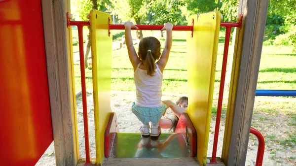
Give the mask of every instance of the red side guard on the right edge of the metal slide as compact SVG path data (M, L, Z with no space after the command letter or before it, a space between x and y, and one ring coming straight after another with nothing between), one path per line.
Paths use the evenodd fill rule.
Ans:
M185 135L186 142L190 145L191 157L196 157L197 134L187 113L181 114L175 133L183 133Z

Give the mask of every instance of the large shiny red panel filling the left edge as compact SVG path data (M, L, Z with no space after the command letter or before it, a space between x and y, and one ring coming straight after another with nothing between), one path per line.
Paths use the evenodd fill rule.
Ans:
M0 1L1 166L34 166L53 141L40 0Z

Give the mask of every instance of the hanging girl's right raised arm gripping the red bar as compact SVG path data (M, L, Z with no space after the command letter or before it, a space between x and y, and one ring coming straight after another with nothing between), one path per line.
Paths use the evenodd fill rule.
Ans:
M172 42L173 42L172 29L173 29L173 24L171 23L165 23L164 27L161 29L161 31L164 31L164 30L166 31L164 49L162 51L159 61L157 62L157 65L159 66L159 69L161 70L161 72L163 72L164 67L166 66L169 60L170 50L172 48Z

